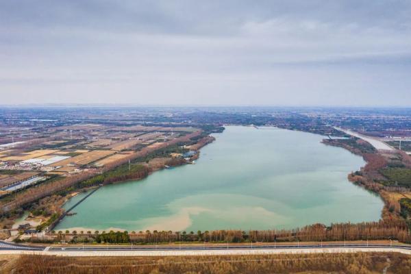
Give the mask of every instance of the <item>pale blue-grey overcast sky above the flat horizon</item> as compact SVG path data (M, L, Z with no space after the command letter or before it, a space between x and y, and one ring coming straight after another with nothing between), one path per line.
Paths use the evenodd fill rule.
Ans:
M0 1L0 105L411 106L411 1Z

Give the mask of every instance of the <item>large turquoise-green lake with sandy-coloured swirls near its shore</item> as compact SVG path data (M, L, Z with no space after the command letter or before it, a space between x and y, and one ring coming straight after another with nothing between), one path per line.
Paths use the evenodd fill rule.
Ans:
M103 186L55 230L197 232L379 220L382 199L347 179L364 160L323 145L324 136L240 126L214 136L196 164Z

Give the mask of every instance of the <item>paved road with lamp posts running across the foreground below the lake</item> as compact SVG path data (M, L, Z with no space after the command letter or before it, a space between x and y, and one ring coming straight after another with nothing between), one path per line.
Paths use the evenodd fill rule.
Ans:
M401 249L411 251L411 245L398 245L398 244L367 244L364 243L336 243L336 244L310 244L299 245L294 243L292 245L107 245L107 246L93 246L93 245L77 245L67 247L41 247L32 245L17 245L11 242L0 241L0 250L12 250L12 251L44 251L45 253L54 252L78 252L85 251L227 251L227 250L282 250L288 249Z

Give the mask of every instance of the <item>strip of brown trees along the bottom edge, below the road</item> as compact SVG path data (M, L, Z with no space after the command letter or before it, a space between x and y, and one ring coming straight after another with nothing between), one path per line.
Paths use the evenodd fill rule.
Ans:
M401 253L312 253L236 256L70 257L22 255L4 264L5 273L397 273L408 274L410 256Z

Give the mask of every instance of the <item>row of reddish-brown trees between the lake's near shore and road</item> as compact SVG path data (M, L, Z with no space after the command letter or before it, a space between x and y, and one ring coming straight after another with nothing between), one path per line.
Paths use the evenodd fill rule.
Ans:
M55 232L54 232L55 233ZM127 232L123 232L127 234ZM70 234L70 232L69 232ZM62 232L58 232L63 236ZM99 236L103 238L99 238ZM369 223L337 223L327 227L322 224L308 225L298 229L280 230L214 230L197 232L157 231L131 232L127 234L129 241L136 243L159 242L310 242L310 241L337 241L337 240L399 240L411 243L411 236L406 221L391 220ZM71 233L73 236L73 233ZM110 232L114 236L114 232ZM88 240L98 239L105 241L107 234L88 232L84 234ZM80 241L84 239L79 239ZM73 239L75 242L76 239Z

